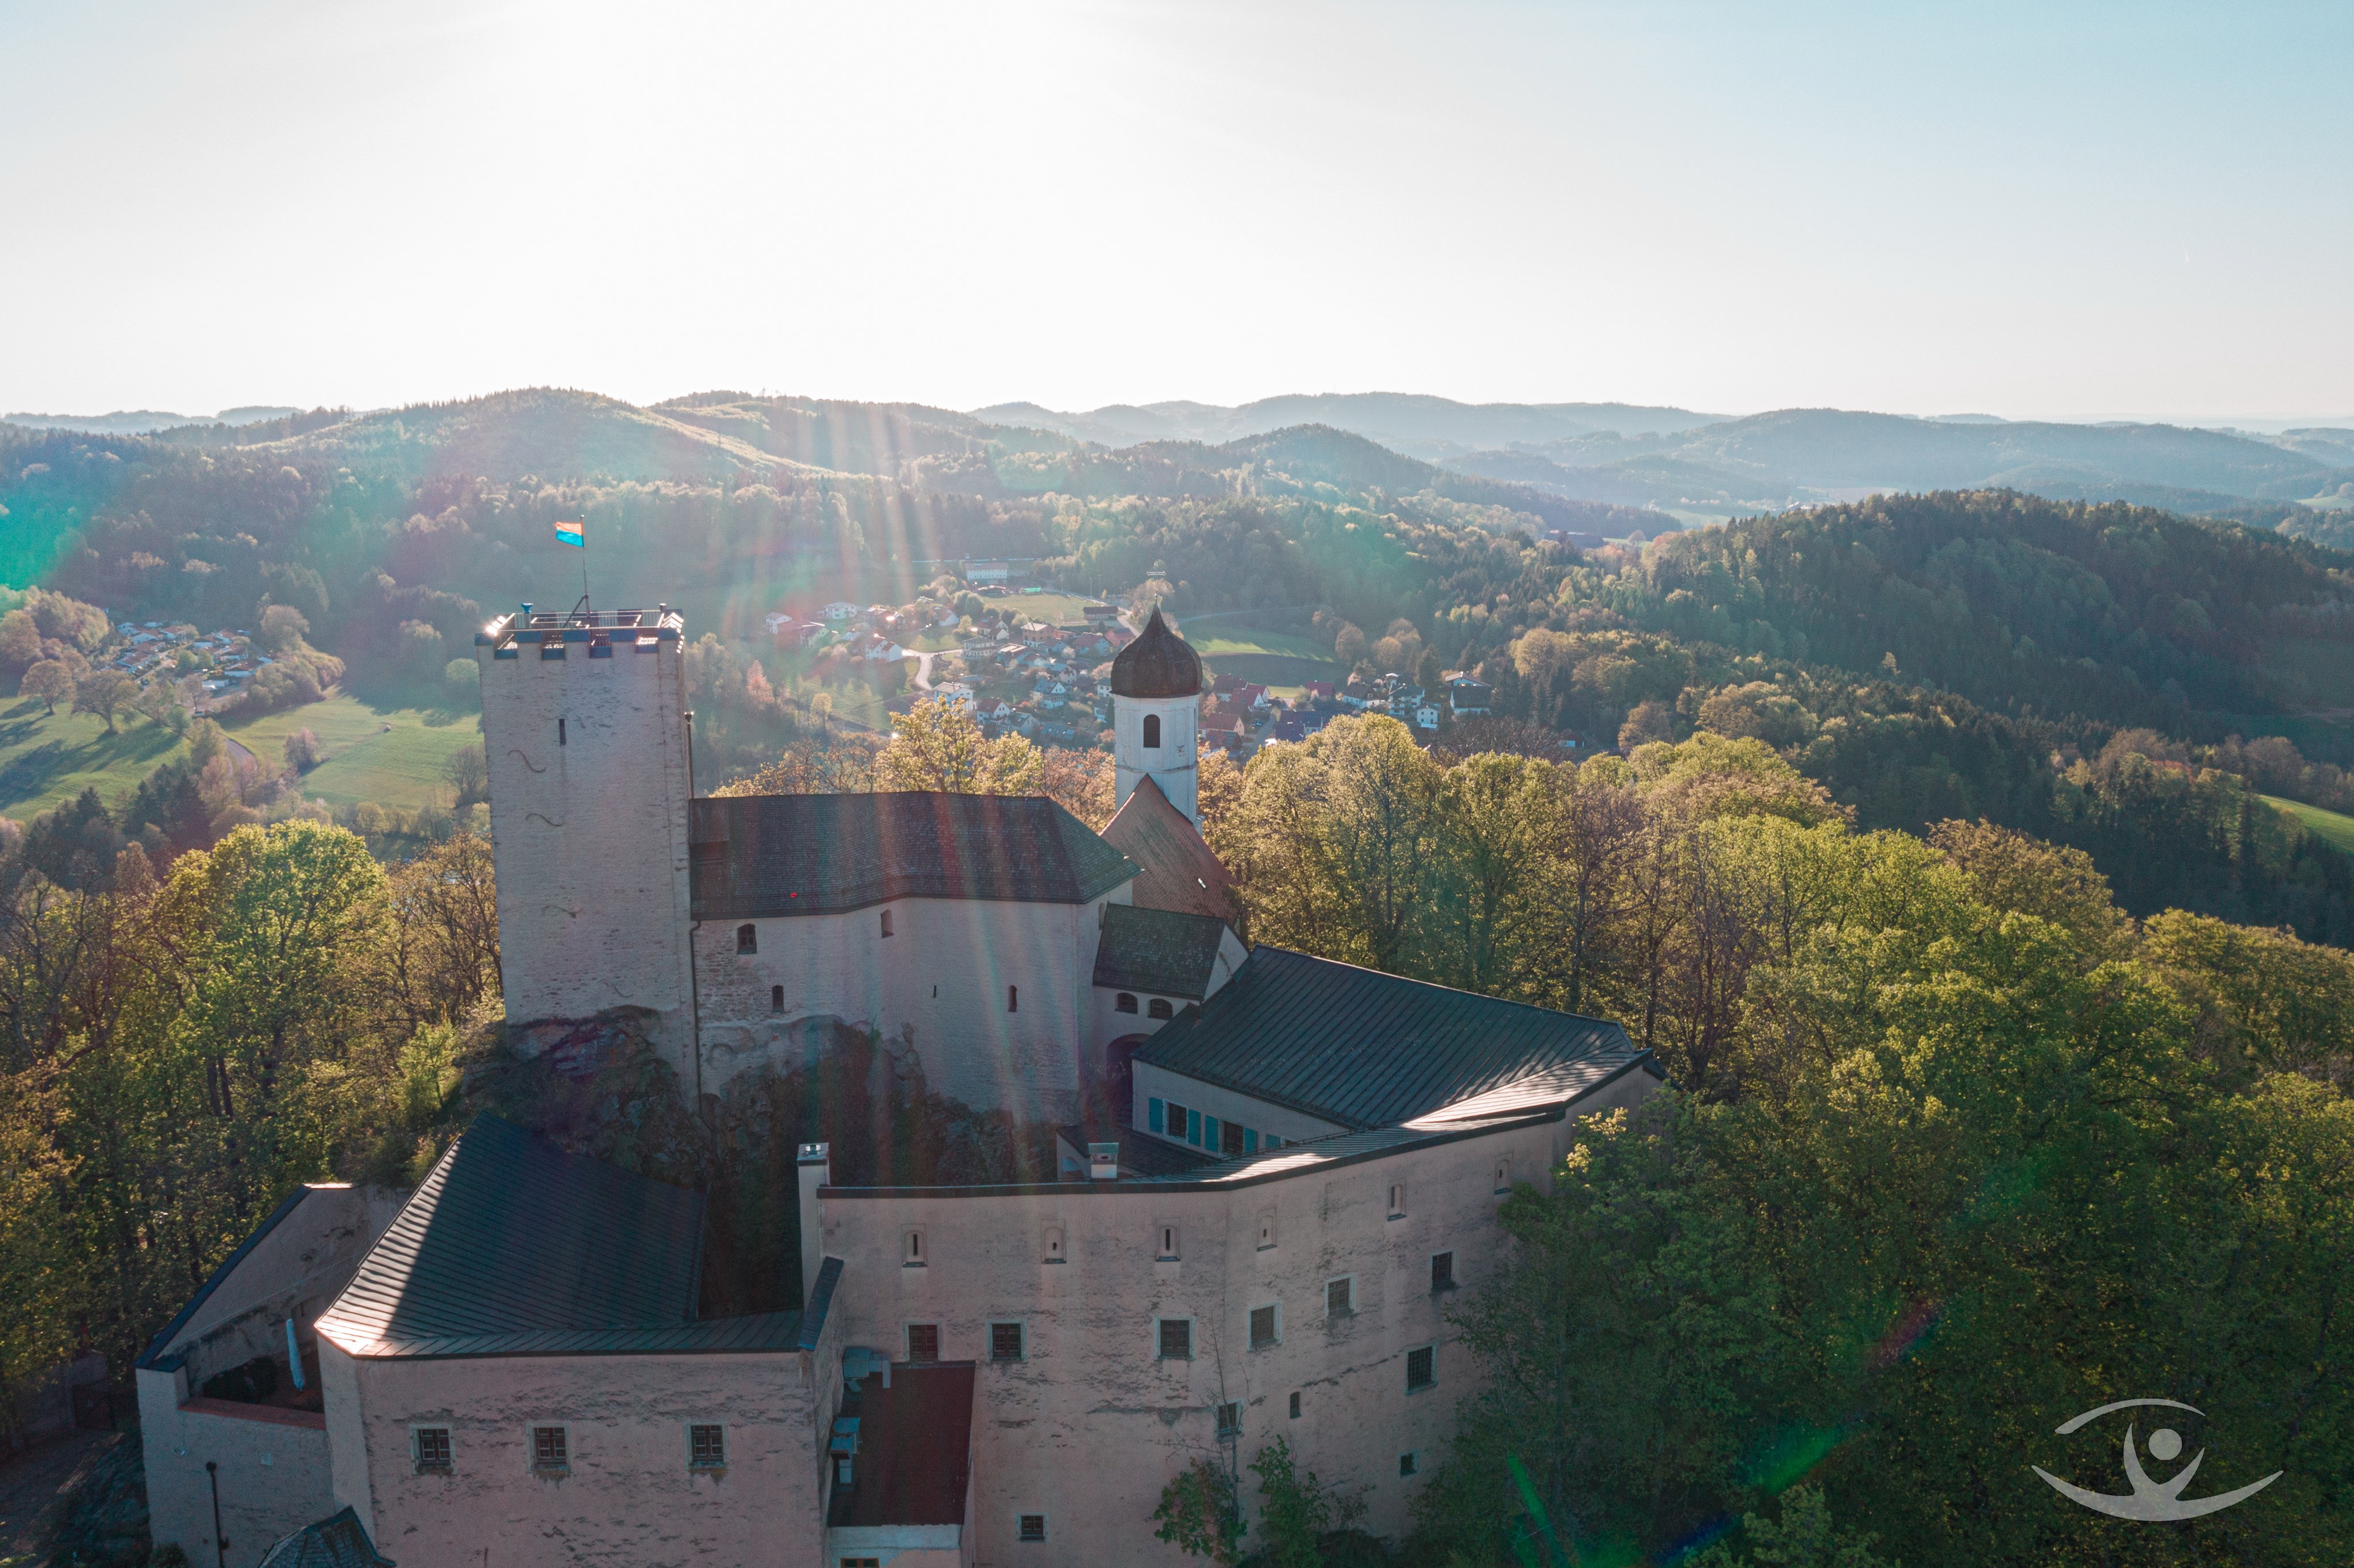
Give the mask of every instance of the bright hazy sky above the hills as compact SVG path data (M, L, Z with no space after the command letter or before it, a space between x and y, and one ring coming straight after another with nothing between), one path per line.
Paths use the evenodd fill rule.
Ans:
M0 407L2345 417L2349 80L2345 0L0 0Z

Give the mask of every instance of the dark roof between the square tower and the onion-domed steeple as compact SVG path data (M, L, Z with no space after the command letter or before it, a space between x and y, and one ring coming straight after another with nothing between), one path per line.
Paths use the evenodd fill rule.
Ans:
M1137 873L1045 796L706 796L692 805L697 921L843 913L890 899L1085 904Z

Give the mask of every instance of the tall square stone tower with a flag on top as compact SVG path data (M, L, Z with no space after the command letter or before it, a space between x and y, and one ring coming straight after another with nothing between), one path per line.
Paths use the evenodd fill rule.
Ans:
M508 1022L652 1008L692 1092L683 626L669 605L525 605L473 657Z

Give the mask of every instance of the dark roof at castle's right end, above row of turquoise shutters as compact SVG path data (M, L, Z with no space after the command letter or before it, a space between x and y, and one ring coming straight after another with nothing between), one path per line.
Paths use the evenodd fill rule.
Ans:
M1262 944L1137 1062L1370 1130L1570 1064L1608 1071L1641 1055L1603 1019Z

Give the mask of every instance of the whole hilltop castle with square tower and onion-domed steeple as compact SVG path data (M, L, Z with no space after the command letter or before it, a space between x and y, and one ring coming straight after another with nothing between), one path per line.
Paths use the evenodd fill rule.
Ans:
M1495 1205L1645 1097L1648 1052L1245 951L1198 833L1201 659L1158 614L1113 662L1104 833L1043 798L701 798L680 652L669 607L476 638L508 1019L643 1010L697 1102L855 1024L1055 1121L1062 1180L836 1187L805 1147L803 1307L727 1318L699 1194L487 1116L414 1194L299 1189L139 1361L155 1540L1177 1563L1163 1486L1271 1436L1405 1530L1476 1387L1445 1309L1502 1262ZM221 1382L257 1358L275 1394Z

